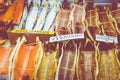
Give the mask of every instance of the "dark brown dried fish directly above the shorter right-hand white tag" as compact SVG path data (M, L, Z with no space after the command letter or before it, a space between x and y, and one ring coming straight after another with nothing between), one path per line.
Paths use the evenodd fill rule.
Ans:
M102 24L102 32L108 36L117 36L115 25L113 24L112 19L109 17L107 11L98 12L99 20Z

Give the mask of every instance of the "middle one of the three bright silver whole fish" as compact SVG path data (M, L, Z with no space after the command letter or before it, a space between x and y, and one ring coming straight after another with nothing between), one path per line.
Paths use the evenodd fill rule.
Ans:
M34 27L34 30L42 30L47 12L48 12L48 6L43 7L41 12L38 15L38 20L37 20L37 23Z

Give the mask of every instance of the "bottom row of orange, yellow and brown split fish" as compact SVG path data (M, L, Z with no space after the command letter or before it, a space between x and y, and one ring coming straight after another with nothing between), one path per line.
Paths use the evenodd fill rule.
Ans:
M38 37L36 43L26 41L23 37L15 46L0 45L0 75L8 75L9 80L120 79L117 47L76 44L74 40L41 42Z

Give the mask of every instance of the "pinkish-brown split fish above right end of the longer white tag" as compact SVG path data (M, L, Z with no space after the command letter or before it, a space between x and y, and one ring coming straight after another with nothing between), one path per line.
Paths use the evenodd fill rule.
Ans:
M70 22L72 22L72 32L73 33L84 33L85 26L83 21L85 20L85 6L74 4L74 8L70 14Z

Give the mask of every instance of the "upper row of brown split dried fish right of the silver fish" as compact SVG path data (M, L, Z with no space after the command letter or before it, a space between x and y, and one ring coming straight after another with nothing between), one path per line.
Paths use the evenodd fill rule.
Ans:
M120 34L119 8L110 10L105 6L88 8L85 5L74 4L72 10L60 10L56 19L56 33L84 33L95 38L96 34L116 36ZM117 17L117 18L116 18ZM60 33L63 32L63 33Z

